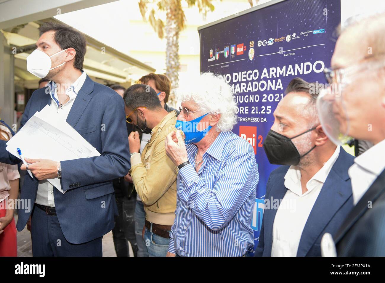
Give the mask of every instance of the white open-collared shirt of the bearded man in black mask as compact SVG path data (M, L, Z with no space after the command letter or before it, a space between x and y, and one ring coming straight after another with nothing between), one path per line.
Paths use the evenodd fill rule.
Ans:
M273 244L271 256L296 256L303 228L313 205L320 194L323 183L340 154L337 146L333 155L307 183L302 194L301 171L298 166L290 166L285 175L288 189L280 201L273 223Z

